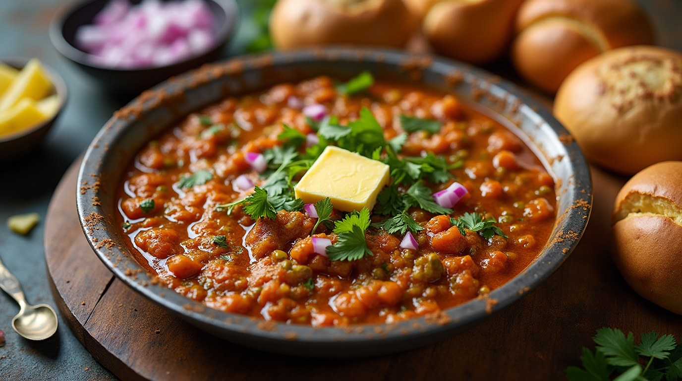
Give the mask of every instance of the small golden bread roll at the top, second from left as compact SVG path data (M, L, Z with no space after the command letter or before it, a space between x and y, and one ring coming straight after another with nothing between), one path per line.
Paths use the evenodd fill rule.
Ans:
M473 64L504 53L513 33L514 15L522 0L423 1L424 36L433 48Z

